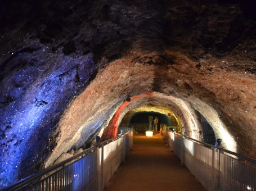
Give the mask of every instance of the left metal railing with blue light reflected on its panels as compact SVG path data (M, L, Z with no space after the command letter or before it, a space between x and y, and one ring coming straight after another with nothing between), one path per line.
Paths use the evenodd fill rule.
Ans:
M132 145L130 129L4 190L103 190Z

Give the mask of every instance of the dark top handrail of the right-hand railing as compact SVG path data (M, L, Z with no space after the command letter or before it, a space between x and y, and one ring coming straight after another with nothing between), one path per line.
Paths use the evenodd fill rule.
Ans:
M215 148L215 146L212 145L212 144L200 142L199 140L190 138L190 137L188 137L187 135L181 135L181 134L178 134L178 133L176 133L176 132L173 132L173 133L174 133L174 134L177 134L177 135L180 136L180 137L185 137L185 138L188 139L188 140L191 140L191 141L193 141L193 142L199 143L199 144L203 145L204 147L206 146L206 147L210 147L210 148ZM256 164L256 160L255 160L254 158L246 157L246 156L244 156L244 155L242 155L242 154L235 153L235 152L229 151L229 150L224 149L224 148L218 148L218 149L219 149L219 151L221 151L221 152L225 152L225 153L232 154L233 156L236 156L237 158L242 158L242 159L244 159L244 160L246 160L246 161L250 161L250 162Z

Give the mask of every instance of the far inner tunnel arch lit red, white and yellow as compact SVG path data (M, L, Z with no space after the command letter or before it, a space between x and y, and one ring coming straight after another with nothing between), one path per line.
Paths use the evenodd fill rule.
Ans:
M134 95L128 101L124 99L123 103L119 104L107 127L104 131L101 131L101 140L116 137L119 134L119 128L132 128L130 125L131 119L137 113L143 112L159 112L168 117L170 124L176 128L177 133L182 134L183 132L188 137L200 141L208 142L207 140L210 140L210 144L214 144L214 135L218 133L218 131L213 130L212 123L205 126L204 122L207 120L204 119L202 122L203 117L197 115L191 103L170 95L152 92ZM145 125L147 126L147 124ZM209 128L210 130L208 131L207 129ZM204 136L205 133L208 135Z

